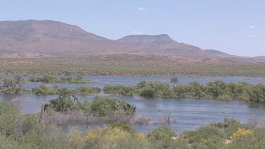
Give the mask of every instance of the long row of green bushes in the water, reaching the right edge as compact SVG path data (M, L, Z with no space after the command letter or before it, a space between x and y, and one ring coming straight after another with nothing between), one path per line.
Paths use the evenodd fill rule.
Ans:
M165 98L204 98L218 100L239 100L242 102L265 102L265 85L252 85L249 83L225 83L215 81L201 85L192 82L188 85L176 85L170 88L169 83L156 83L141 81L137 85L105 85L104 93L114 95L134 95L142 97Z

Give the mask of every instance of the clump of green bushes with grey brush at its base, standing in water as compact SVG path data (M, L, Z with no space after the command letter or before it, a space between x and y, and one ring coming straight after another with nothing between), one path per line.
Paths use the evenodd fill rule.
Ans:
M111 97L78 101L74 90L61 88L59 97L42 105L45 124L134 123L136 106Z

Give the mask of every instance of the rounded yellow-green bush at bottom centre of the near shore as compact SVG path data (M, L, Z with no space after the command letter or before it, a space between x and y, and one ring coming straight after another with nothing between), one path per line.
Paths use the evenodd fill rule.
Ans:
M141 133L129 133L117 127L106 126L102 129L89 129L84 136L75 134L71 136L78 137L81 143L73 143L78 145L75 148L146 148L146 139Z

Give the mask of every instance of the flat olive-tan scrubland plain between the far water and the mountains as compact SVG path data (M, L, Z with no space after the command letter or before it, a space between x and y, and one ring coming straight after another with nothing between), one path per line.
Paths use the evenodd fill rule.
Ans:
M0 74L81 76L265 76L264 63L186 61L152 54L88 54L53 58L0 58Z

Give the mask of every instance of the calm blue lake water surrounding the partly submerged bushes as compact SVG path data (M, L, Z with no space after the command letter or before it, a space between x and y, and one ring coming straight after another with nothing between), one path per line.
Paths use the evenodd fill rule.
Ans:
M59 86L67 88L77 88L81 85L88 85L102 88L106 84L122 84L122 85L136 85L140 81L160 81L170 83L169 77L114 77L114 76L88 76L83 77L89 79L94 83L88 84L71 84L71 83L49 83L45 85ZM263 83L265 78L249 78L249 77L178 77L179 83L187 84L192 81L199 81L206 84L210 81L221 80L226 83L230 82L247 82L247 83ZM179 83L170 83L170 85L177 85ZM25 83L25 88L35 88L43 83ZM105 95L100 93L100 95ZM93 100L95 95L78 95L78 99ZM212 121L223 121L225 117L235 118L239 121L247 123L252 117L264 117L265 104L242 103L237 101L219 101L219 100L203 100L203 99L163 99L150 98L143 100L141 97L135 95L133 97L113 96L119 100L124 100L130 104L136 105L136 115L148 114L151 117L150 124L133 124L134 129L142 132L158 128L155 122L163 118L163 114L170 114L170 118L175 119L170 124L172 129L177 133L184 130L194 130L202 124L208 124ZM0 95L0 101L11 101L18 106L22 113L37 113L40 112L42 102L49 102L56 98L57 95ZM97 125L97 126L102 126ZM95 125L91 125L94 127ZM86 129L87 126L83 126Z

